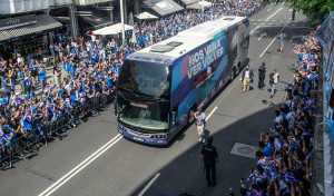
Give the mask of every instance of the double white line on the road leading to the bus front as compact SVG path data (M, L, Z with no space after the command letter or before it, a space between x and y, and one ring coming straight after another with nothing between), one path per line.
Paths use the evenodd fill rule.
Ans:
M86 158L84 161L81 161L79 165L77 165L73 169L71 169L66 175L63 175L60 179L58 179L56 183L53 183L49 188L43 190L38 196L51 195L59 187L61 187L65 183L67 183L69 179L71 179L73 176L76 176L79 171L85 169L90 163L92 163L95 159L97 159L99 156L101 156L105 151L107 151L110 147L112 147L116 143L118 143L121 138L122 138L122 136L120 134L115 136L107 144L105 144L102 147L100 147L98 150L96 150L94 154L91 154L88 158Z

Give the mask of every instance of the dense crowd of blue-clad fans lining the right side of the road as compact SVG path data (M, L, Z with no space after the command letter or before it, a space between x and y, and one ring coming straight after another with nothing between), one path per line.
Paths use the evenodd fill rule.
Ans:
M320 71L321 46L310 36L295 47L298 56L294 82L284 89L286 96L275 107L273 129L261 134L256 169L252 168L245 188L242 179L242 195L289 196L311 195L312 155L314 144L315 109ZM267 104L268 101L265 101Z

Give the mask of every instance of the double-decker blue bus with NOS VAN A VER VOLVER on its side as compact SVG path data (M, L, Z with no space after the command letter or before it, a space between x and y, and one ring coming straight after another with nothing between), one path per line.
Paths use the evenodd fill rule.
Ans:
M167 145L247 63L249 21L210 20L128 56L117 84L118 131Z

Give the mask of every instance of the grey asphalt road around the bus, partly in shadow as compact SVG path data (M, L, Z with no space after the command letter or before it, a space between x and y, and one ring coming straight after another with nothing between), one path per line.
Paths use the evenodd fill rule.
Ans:
M206 186L204 167L198 161L202 144L197 141L195 126L180 133L166 148L144 146L118 136L116 117L109 108L69 130L63 140L50 143L14 168L1 171L0 195L176 196L186 192L218 196L227 195L229 187L237 194L239 179L249 175L256 159L230 150L236 143L257 146L259 134L272 127L274 117L273 108L261 101L268 99L269 92L256 88L257 68L265 61L267 71L277 69L281 80L292 81L292 68L297 60L292 47L301 40L298 36L307 33L305 18L297 13L296 20L289 21L291 13L282 6L269 4L249 19L255 29L248 52L255 70L255 88L242 94L238 76L205 110L207 116L212 114L207 134L214 136L222 161L216 187ZM274 40L279 31L287 35L282 55L277 51L277 39ZM284 87L278 85L273 101L282 100Z

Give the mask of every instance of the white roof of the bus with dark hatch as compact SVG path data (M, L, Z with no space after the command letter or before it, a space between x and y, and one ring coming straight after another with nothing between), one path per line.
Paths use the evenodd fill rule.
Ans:
M245 17L222 17L215 20L209 20L187 30L180 31L169 39L138 50L137 52L130 55L129 59L131 59L131 56L138 57L138 55L140 56L144 53L159 53L167 56L170 59L177 59L184 53L209 41L219 31L226 32L228 29L242 23L244 20L246 20Z

